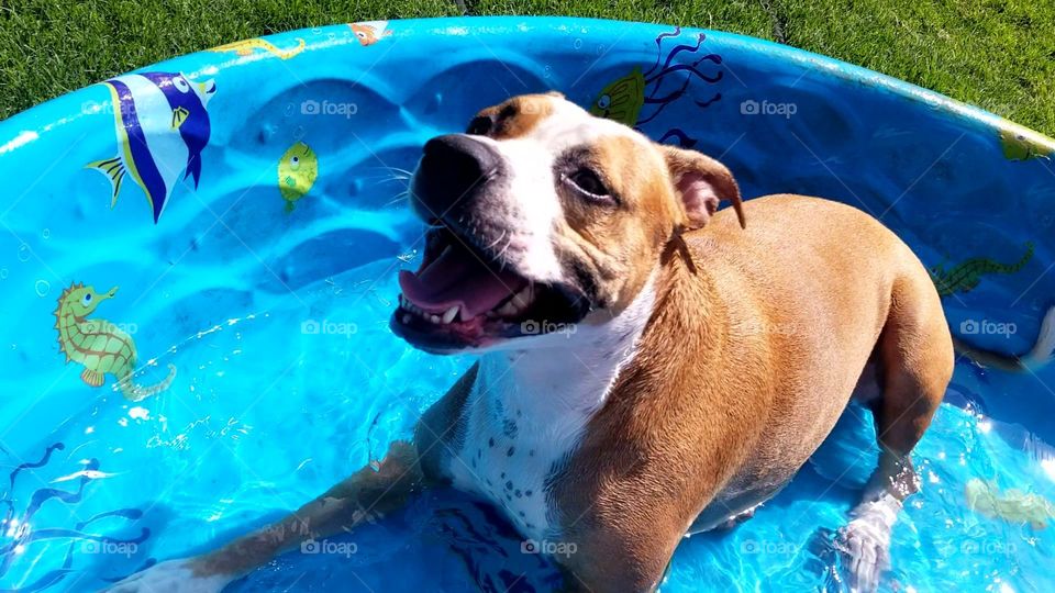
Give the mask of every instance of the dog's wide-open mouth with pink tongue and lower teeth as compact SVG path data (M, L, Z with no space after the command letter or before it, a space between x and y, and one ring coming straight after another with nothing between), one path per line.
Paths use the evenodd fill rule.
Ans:
M446 226L429 232L421 268L401 271L399 286L392 329L437 353L562 331L589 310L577 291L534 282Z

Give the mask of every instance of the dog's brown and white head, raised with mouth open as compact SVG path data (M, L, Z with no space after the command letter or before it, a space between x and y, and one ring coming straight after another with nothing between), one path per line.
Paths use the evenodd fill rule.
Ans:
M431 228L421 268L400 275L392 328L454 353L604 323L720 200L743 225L740 190L718 161L558 93L514 97L465 134L425 144L411 203Z

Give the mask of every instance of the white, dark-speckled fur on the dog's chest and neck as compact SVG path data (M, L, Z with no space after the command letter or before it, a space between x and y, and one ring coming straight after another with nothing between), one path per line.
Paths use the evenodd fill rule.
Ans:
M518 338L480 359L465 404L454 485L502 508L532 539L558 537L546 480L578 446L652 314L653 279L618 317L567 333ZM569 379L573 378L573 379Z

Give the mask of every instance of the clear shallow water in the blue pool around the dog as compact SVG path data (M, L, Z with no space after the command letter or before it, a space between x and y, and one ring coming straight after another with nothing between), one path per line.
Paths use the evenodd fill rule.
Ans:
M201 549L295 508L408 436L469 361L424 355L390 335L392 271L402 265L379 260L296 295L254 295L244 315L203 323L200 334L159 357L180 369L163 396L130 404L108 392L51 433L22 433L22 451L42 455L54 443L64 448L15 477L8 496L15 516L42 489L75 491L79 479L56 480L84 469L82 460L99 460L106 474L85 480L79 501L43 502L31 534L75 528L119 508L140 516L103 517L80 529L109 541L18 544L20 551L4 556L8 586L32 590L36 579L63 570L68 550L69 574L56 590L99 586L104 580L93 575L118 578L148 558ZM318 315L304 317L306 306ZM320 333L310 333L312 322ZM1035 440L1032 450L1013 443L1026 433L999 425L971 403L979 377L957 369L951 399L960 405L943 404L917 449L923 490L895 530L887 590L1055 586L1045 570L1055 529L986 518L966 506L971 478L1055 496L1052 458ZM76 377L64 379L20 422L32 426L35 416L53 416L76 398ZM867 412L852 407L811 463L754 518L686 539L663 591L835 588L832 535L875 461L869 423ZM9 528L4 544L25 540L10 535ZM493 591L545 591L558 579L542 558L521 552L521 539L497 513L451 491L430 493L336 541L319 553L288 553L234 590L459 591L479 582Z

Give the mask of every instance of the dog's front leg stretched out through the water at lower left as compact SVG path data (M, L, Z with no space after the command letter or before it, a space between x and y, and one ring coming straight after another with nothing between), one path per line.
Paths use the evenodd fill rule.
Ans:
M397 441L377 470L366 467L296 512L222 548L169 560L133 574L109 591L219 592L275 556L309 539L354 529L402 507L425 483L415 447Z

